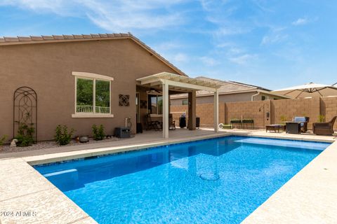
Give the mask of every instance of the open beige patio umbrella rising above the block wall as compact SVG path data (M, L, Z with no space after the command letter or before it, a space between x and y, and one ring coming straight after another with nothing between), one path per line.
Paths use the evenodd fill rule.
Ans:
M282 90L275 90L272 92L277 94L283 94L293 99L306 97L329 97L337 96L337 87L333 85L308 83L304 85L288 87Z

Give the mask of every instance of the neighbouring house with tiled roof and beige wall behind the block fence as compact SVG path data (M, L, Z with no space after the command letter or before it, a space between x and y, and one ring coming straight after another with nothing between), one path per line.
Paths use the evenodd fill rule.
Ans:
M218 89L219 102L248 102L260 101L265 99L288 99L282 94L277 94L264 87L238 83L235 81L218 80L199 76L197 80L204 80L220 85ZM213 93L204 90L197 91L197 104L213 103ZM171 105L187 105L187 94L174 94L171 96Z

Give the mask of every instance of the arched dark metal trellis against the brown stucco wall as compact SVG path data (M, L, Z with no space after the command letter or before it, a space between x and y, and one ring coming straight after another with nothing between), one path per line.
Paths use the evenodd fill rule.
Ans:
M13 102L13 138L22 124L34 127L37 141L37 92L23 86L15 90Z

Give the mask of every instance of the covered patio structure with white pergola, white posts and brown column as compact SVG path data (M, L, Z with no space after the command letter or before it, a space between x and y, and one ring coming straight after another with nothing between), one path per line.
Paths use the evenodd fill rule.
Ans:
M144 89L157 90L162 96L162 123L163 138L169 138L169 113L170 113L170 94L188 93L188 129L196 129L196 92L206 90L214 94L214 131L218 132L218 89L220 85L206 80L198 80L177 74L161 72L151 76L138 78L138 87ZM149 102L147 102L149 104Z

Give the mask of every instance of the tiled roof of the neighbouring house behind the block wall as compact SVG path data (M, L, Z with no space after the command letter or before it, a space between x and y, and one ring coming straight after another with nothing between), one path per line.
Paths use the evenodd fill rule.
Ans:
M256 85L249 85L245 83L238 83L234 81L225 81L225 80L218 80L215 78L207 78L204 76L199 76L195 78L197 80L204 80L208 82L215 83L216 85L219 85L220 88L218 89L219 94L232 94L232 93L239 93L239 92L253 92L260 90L261 92L268 92L270 94L270 90L267 90L263 87L259 87ZM197 96L203 96L203 95L208 95L211 94L211 92L204 91L204 90L199 90L197 91ZM185 98L187 97L186 94L175 94L171 96L171 99L175 98Z

